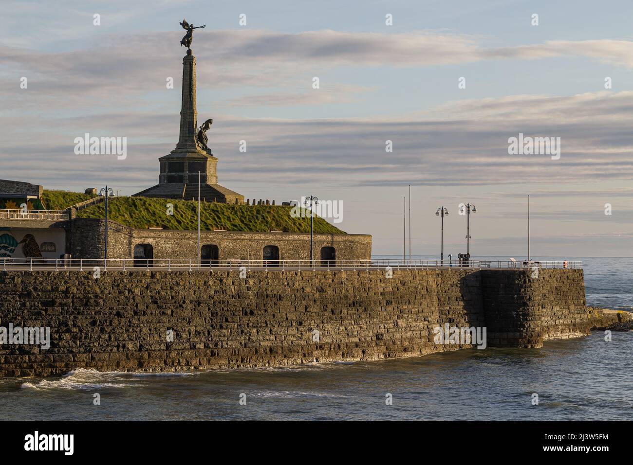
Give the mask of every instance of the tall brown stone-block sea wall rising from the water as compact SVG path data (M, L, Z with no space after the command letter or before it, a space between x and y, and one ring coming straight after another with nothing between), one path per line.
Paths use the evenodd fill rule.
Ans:
M284 366L473 347L435 344L434 328L446 323L487 326L489 347L589 333L582 270L530 273L101 271L96 280L92 270L1 271L0 326L50 326L51 346L0 345L0 375Z

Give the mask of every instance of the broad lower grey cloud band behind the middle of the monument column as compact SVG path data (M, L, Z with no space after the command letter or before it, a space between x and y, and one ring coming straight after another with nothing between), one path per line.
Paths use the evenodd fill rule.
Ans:
M214 115L208 133L220 159L220 181L302 185L327 180L340 187L577 185L633 180L633 92L570 97L511 96L453 102L440 109L385 118L294 120ZM441 116L439 116L441 115ZM0 157L28 153L28 169L13 164L4 177L116 178L128 193L152 185L158 157L177 142L175 112L51 117L32 127L27 117L0 120ZM125 161L75 156L73 138L128 137ZM509 155L518 133L561 137L560 160ZM16 137L27 133L28 137ZM239 151L246 140L248 151ZM391 140L393 151L385 151ZM51 173L55 175L52 176ZM22 175L19 175L22 173ZM603 184L604 185L604 184ZM547 187L541 189L546 190ZM239 191L239 189L236 190Z

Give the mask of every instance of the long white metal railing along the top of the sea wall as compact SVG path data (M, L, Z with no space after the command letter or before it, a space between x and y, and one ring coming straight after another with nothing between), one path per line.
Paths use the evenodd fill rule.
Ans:
M79 259L79 258L0 258L0 270L410 270L436 268L474 268L491 270L530 270L534 268L582 268L581 261L501 261L501 260L242 260L242 259Z

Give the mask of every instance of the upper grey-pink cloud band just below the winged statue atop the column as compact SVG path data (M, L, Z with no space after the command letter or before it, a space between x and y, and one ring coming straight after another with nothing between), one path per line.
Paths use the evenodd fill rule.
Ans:
M184 31L183 31L184 32ZM178 47L183 32L91 36L89 45L72 51L43 52L0 46L0 96L24 111L56 111L147 105L147 94L163 99L166 78L179 85ZM204 35L204 40L197 39ZM201 89L268 87L251 101L285 105L297 97L311 104L305 89L315 73L340 66L423 67L503 59L584 56L633 68L633 42L627 40L553 40L542 44L484 47L470 35L407 32L378 34L333 30L289 34L266 30L204 30L194 34ZM29 96L19 92L19 78L29 80ZM340 85L339 85L340 86ZM248 92L248 90L243 90ZM122 97L125 96L125 99ZM232 104L248 104L236 97ZM320 97L325 98L325 97ZM332 98L332 97L329 97Z

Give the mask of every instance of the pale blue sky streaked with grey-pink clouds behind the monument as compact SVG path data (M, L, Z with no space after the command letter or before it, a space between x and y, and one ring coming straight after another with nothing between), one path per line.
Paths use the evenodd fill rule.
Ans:
M336 226L400 256L409 221L411 254L439 256L441 206L444 253L465 252L458 211L470 202L471 254L525 257L529 194L532 256L633 256L630 1L2 8L0 178L121 195L158 183L158 158L178 141L186 18L206 25L191 47L197 111L213 118L223 186L340 201ZM127 157L75 154L85 133L126 137ZM560 137L560 158L510 154L520 133Z

